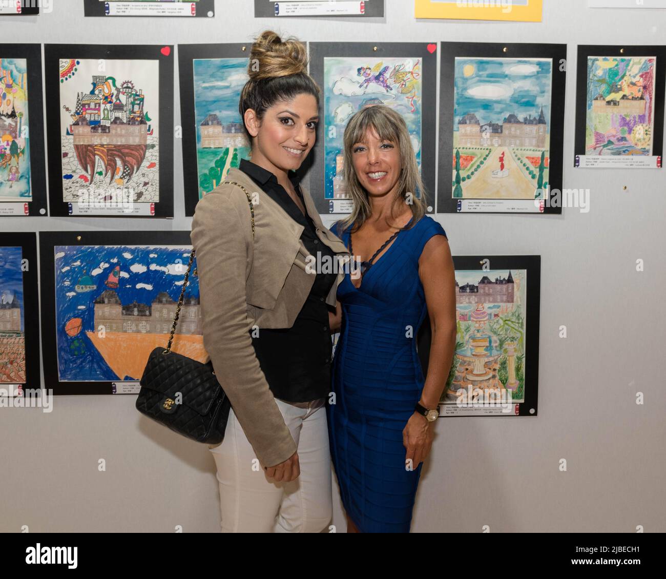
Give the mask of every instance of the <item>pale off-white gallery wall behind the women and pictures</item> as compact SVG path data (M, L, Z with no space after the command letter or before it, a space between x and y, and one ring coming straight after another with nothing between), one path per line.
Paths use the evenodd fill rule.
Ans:
M590 189L589 213L437 217L454 255L541 255L539 416L438 420L412 530L666 531L666 175L573 169L569 162L576 45L664 43L666 11L545 0L543 23L521 24L415 21L411 0L386 4L386 17L373 21L255 20L250 0L242 9L239 0L216 0L211 20L104 20L85 19L78 0L58 0L53 13L0 19L0 27L7 43L250 42L266 27L304 41L567 43L564 187ZM174 111L178 124L177 91ZM176 141L176 219L5 217L0 229L189 230L177 194L180 154ZM635 271L637 259L645 261L643 273ZM562 324L566 339L558 337ZM46 377L47 387L52 380ZM638 391L645 393L642 406L635 404ZM63 396L50 414L0 409L0 531L219 530L207 448L143 418L134 403L135 396ZM100 458L106 472L97 470ZM558 470L561 458L567 472ZM337 499L335 505L342 531Z

